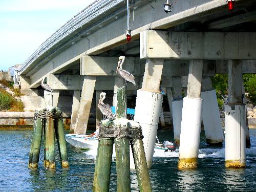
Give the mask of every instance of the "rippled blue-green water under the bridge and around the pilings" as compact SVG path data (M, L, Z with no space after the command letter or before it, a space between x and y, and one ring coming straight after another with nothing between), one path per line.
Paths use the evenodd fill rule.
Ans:
M0 131L0 191L92 191L95 153L67 145L70 169L56 172L42 164L28 169L32 131ZM160 141L172 132L159 131ZM209 148L201 134L198 169L177 170L178 153L155 153L150 176L153 191L256 191L256 130L250 130L251 145L246 150L245 169L226 169L224 148ZM56 151L56 154L58 151ZM112 163L110 191L116 191L116 164ZM138 191L136 173L131 173L132 191Z

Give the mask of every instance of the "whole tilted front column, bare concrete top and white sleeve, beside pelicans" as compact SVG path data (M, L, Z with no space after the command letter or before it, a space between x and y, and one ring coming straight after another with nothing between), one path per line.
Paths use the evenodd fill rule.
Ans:
M142 88L137 92L135 121L142 127L147 167L152 165L163 95L159 91L163 59L147 59Z

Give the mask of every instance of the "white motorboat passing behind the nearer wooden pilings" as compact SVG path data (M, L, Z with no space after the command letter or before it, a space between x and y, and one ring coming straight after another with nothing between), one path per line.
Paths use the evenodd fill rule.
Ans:
M73 145L74 147L76 147L76 148L97 150L98 138L93 137L90 134L85 134L85 135L65 134L65 137L66 137L66 141L68 143L70 143L71 145ZM172 143L172 142L168 141L168 143ZM172 148L170 148L169 145L164 146L164 144L156 143L155 144L155 151L168 152L168 151L175 151L176 150L176 145L175 145L174 150Z

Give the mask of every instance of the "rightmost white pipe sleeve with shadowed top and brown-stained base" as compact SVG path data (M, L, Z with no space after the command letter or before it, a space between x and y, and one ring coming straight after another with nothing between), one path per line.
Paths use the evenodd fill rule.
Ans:
M225 165L245 167L245 105L225 105Z

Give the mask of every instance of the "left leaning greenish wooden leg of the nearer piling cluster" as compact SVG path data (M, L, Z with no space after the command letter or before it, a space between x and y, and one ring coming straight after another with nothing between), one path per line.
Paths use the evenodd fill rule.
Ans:
M108 192L113 152L113 139L100 139L93 179L93 192Z

